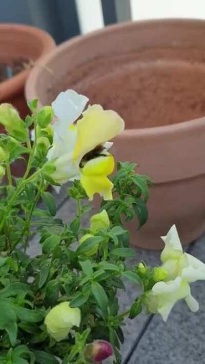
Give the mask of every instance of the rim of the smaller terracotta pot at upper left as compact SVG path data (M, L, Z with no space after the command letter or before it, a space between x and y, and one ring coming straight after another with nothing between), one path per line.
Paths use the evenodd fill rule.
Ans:
M42 45L42 51L40 56L37 58L38 60L55 46L55 41L48 32L30 25L4 23L0 24L0 33L1 31L8 31L8 33L24 32L28 36L31 34L35 35ZM13 43L15 43L15 36L13 37ZM0 100L4 100L11 96L11 94L15 94L19 88L23 87L29 73L30 69L25 69L10 79L0 82Z

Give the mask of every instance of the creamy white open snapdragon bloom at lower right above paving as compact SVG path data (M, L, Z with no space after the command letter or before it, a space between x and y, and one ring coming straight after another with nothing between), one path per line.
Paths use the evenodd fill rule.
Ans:
M147 294L146 305L150 312L158 312L166 321L172 307L182 298L185 298L191 311L199 309L198 302L191 295L189 283L205 280L205 264L183 252L175 225L162 240L165 248L161 261L167 275L163 279L165 282L156 283Z

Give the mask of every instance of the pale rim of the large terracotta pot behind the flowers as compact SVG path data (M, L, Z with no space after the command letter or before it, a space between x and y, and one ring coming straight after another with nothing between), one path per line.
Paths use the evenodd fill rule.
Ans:
M67 48L72 47L73 45L76 46L76 44L81 44L86 39L92 39L98 34L107 34L123 30L123 29L130 29L130 28L136 28L136 27L144 27L144 26L153 26L153 25L167 25L167 24L174 24L178 26L195 26L195 27L201 27L203 26L205 29L205 20L204 19L194 19L194 18L159 18L159 19L147 19L147 20L136 20L136 21L129 21L129 22L122 22L118 24L112 24L109 26L106 26L103 29L98 29L92 32L89 32L84 35L77 35L75 37L72 37L71 39L68 39L61 43L59 46L57 46L54 50L52 50L49 54L45 55L44 57L40 58L40 61L38 63L41 67L34 67L32 71L30 72L30 75L27 79L26 85L25 85L25 94L28 99L34 99L37 97L36 95L36 88L35 84L37 81L37 78L42 72L43 67L47 65L49 61L51 61L53 58L56 58L60 55L61 52L65 51ZM205 47L204 47L205 49ZM42 106L39 103L39 106ZM173 134L176 132L183 132L183 130L186 128L192 130L196 127L201 128L202 125L204 125L205 121L205 115L202 118L195 118L187 121L182 121L179 123L174 123L171 125L160 125L160 126L152 126L152 127L145 127L145 128L134 128L134 129L125 129L124 132L119 135L117 138L131 138L133 137L133 133L141 136L152 136L153 134L157 135L167 135L167 134Z

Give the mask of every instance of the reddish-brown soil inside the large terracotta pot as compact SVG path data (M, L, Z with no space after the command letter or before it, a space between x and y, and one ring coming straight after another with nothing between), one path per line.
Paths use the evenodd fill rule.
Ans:
M74 89L116 110L126 129L179 123L205 114L204 61L204 50L171 47L95 59L68 70L48 98Z

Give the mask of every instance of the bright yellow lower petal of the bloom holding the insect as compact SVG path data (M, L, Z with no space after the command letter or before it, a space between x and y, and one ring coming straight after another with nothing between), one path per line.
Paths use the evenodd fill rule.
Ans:
M86 190L90 200L98 193L104 200L112 200L113 183L107 178L114 169L114 158L98 157L86 163L81 169L81 184Z

